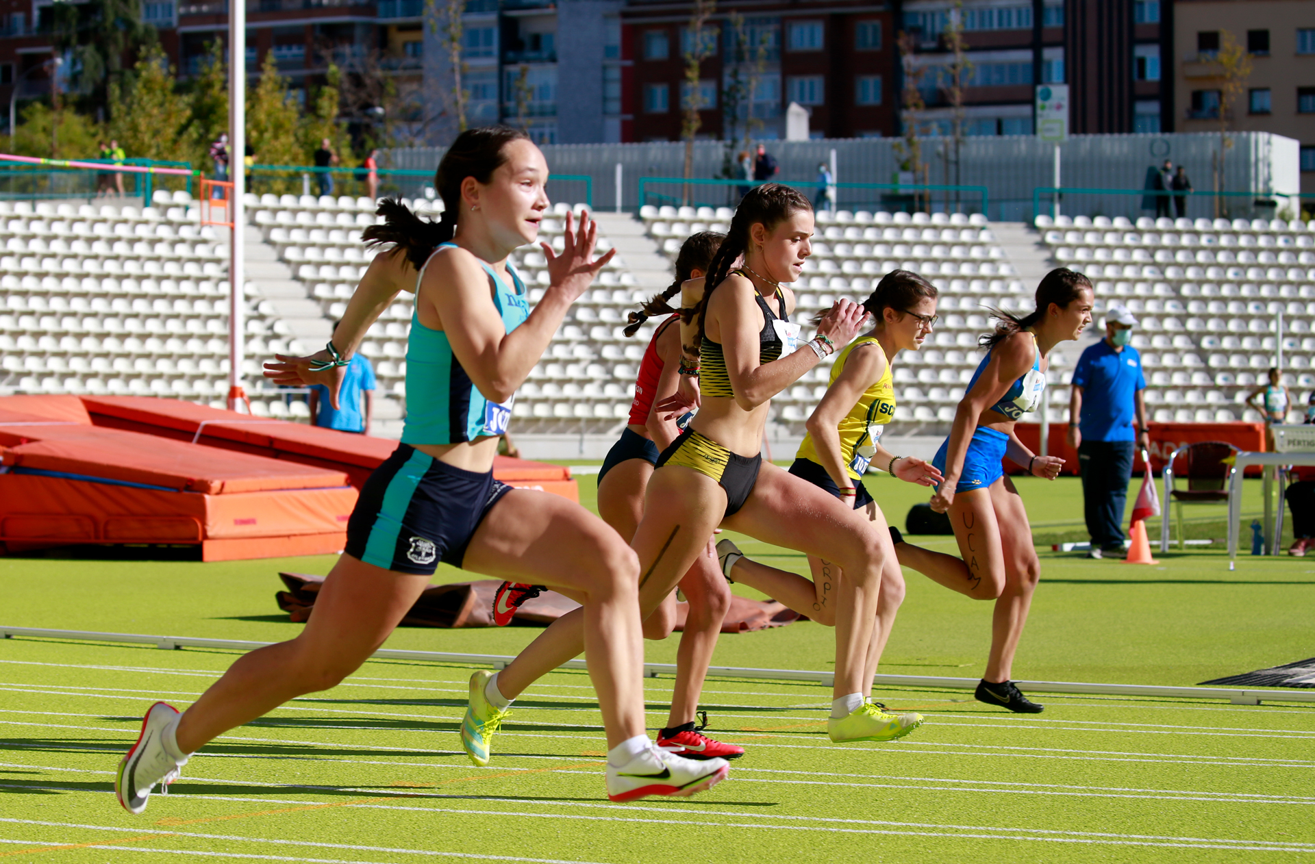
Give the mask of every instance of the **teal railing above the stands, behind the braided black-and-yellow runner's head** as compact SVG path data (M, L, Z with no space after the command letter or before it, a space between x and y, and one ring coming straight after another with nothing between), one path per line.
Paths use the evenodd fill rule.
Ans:
M748 189L763 185L764 183L780 183L781 185L793 187L796 189L806 189L821 192L823 188L817 180L719 180L719 179L685 179L685 178L639 178L639 206L644 204L660 203L660 204L675 204L675 205L692 205L692 206L735 206L743 197L743 193ZM675 195L665 192L655 192L652 187L655 185L676 185L681 187ZM722 201L697 201L694 200L696 192L690 189L688 193L684 187L722 187L726 189L725 200ZM953 192L967 192L970 199L969 201L960 201L959 205L964 212L969 213L985 213L988 204L988 189L984 185L935 185L935 184L911 184L911 183L832 183L830 184L832 189L856 189L856 191L871 191L878 192L871 200L864 200L863 196L846 196L846 199L859 200L846 200L844 206L847 209L872 206L880 210L920 210L930 208L932 204L943 205L943 200L932 200L935 193L939 197L944 197L945 193ZM650 201L654 199L654 201ZM980 204L977 204L980 201ZM977 204L977 206L969 206L969 204ZM955 203L949 203L949 206L955 206Z

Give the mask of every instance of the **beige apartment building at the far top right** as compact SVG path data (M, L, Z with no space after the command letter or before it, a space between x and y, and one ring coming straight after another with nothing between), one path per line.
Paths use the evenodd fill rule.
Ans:
M1273 132L1301 142L1302 192L1315 193L1315 4L1303 0L1177 0L1172 71L1180 132ZM1251 70L1230 99L1228 39Z

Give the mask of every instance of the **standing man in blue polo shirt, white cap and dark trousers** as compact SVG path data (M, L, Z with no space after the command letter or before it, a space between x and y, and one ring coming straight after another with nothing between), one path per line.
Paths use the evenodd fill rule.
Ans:
M1137 320L1123 304L1105 313L1105 338L1082 351L1069 397L1070 447L1082 472L1088 558L1123 556L1123 508L1132 479L1132 452L1148 448L1141 355L1132 347ZM1132 420L1136 414L1136 431Z

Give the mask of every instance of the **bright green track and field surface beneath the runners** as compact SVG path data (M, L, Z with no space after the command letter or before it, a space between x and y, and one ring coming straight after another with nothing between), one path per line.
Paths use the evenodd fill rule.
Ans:
M923 493L877 477L894 521ZM581 477L592 504L593 483ZM1024 480L1034 530L1081 522L1076 481ZM1248 488L1248 509L1258 491ZM911 493L911 494L910 494ZM1039 518L1044 514L1044 521ZM1155 534L1155 531L1152 531ZM739 538L743 539L743 538ZM739 542L738 539L738 542ZM952 538L920 538L949 550ZM802 571L756 540L747 552ZM1015 675L1195 684L1315 655L1315 560L1161 555L1156 567L1041 552ZM279 569L331 556L229 562L0 558L0 621L33 627L279 640ZM882 672L976 677L992 605L906 573ZM444 568L441 580L466 579ZM736 587L738 589L742 587ZM752 594L752 592L746 590ZM514 654L538 630L404 629L394 648ZM723 635L723 665L830 668L815 623ZM676 642L648 643L673 661ZM613 805L588 677L560 672L518 701L489 768L459 752L469 669L371 661L338 688L233 730L141 817L113 771L155 698L185 706L237 655L50 639L0 642L0 856L32 861L435 857L554 861L1235 861L1315 852L1315 708L1039 697L1013 715L955 689L884 689L928 722L892 744L832 744L830 692L711 680L714 734L743 744L731 780L692 800ZM648 726L669 679L646 681Z

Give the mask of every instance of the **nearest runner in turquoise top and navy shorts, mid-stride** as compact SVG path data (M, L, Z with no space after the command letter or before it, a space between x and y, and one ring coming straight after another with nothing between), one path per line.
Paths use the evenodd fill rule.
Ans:
M312 358L271 364L276 381L326 384L337 401L342 366L368 326L402 291L416 292L406 376L416 417L408 417L404 443L362 488L345 554L325 579L314 614L296 639L239 659L185 714L164 704L150 709L116 780L120 802L133 813L206 742L354 672L412 608L441 560L562 587L581 598L589 673L611 748L609 797L688 796L726 776L725 760L675 756L644 732L635 554L580 505L493 479L515 388L611 258L594 259L590 220L581 217L575 230L567 216L563 252L543 243L550 285L527 309L508 256L538 238L547 180L543 154L523 132L462 133L434 181L442 221L421 221L396 201L381 204L387 224L367 229L364 238L393 249L370 266L334 339ZM488 688L490 677L472 676L463 722L463 743L479 744L468 747L476 764L488 760L488 739L506 715L506 701Z

